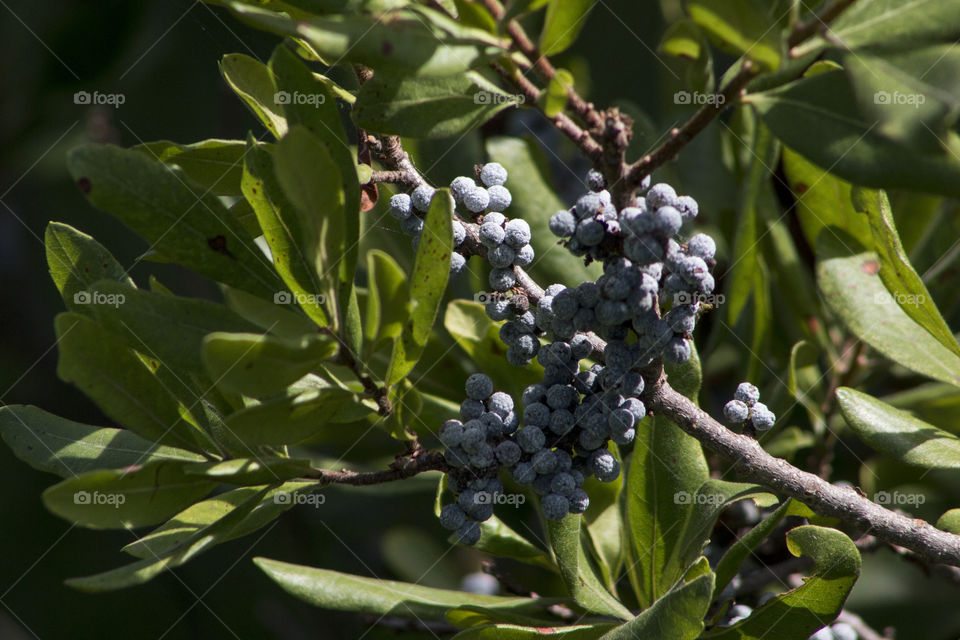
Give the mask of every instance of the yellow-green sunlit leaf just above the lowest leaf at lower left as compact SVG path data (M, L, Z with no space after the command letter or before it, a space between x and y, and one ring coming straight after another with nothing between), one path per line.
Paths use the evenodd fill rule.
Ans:
M250 508L236 519L229 531L222 531L213 544L245 536L269 524L297 504L322 504L315 494L317 483L285 482L279 487L240 487L192 504L142 538L123 548L135 558L154 559L175 551L204 528L216 524L236 509ZM209 547L205 547L207 549Z

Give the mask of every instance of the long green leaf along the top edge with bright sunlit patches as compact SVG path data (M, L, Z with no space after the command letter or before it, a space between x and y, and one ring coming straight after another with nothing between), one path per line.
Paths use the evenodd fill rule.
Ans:
M477 30L469 38L451 37L421 17L394 11L331 16L297 21L289 16L230 2L243 21L272 33L303 38L325 59L365 64L384 73L450 75L479 66L502 50L498 41Z

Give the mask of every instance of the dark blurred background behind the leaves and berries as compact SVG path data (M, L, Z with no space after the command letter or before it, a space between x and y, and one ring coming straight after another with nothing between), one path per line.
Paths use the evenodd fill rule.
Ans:
M679 114L670 102L677 87L651 51L661 32L656 3L601 2L561 63L574 70L590 99L637 105L654 115L652 131L664 131ZM46 271L43 231L49 220L76 226L124 265L132 264L145 245L85 203L65 170L66 151L86 141L131 146L158 139L242 139L249 129L261 134L261 126L222 82L217 60L231 52L266 60L276 42L220 9L186 0L0 2L0 403L36 404L80 422L109 424L56 377L52 321L63 305ZM120 93L125 103L119 108L77 105L73 94L79 90ZM515 115L491 126L518 128ZM566 157L569 149L538 131ZM654 138L638 134L637 151ZM697 182L697 166L716 155L710 138L699 147L671 177L686 182L688 191L707 204L729 202L733 187ZM447 166L435 172L449 179L466 170ZM561 182L569 183L558 179L558 186ZM138 283L149 274L183 295L211 292L208 284L169 265L142 262L132 270ZM390 450L386 438L372 436L356 455ZM321 508L298 507L274 526L147 585L85 595L65 587L63 579L130 561L118 550L134 535L83 530L52 516L40 494L54 482L55 477L33 471L0 446L4 640L392 637L398 632L381 627L366 633L369 621L358 616L295 601L250 559L266 556L413 581L433 564L421 582L451 588L479 569L478 554L449 549L431 511L433 484L417 480L373 491L332 491ZM437 557L441 560L434 563ZM556 588L543 575L516 571L547 593ZM958 595L956 587L925 581L919 569L881 554L865 558L850 605L876 626L903 625L899 638L945 638L957 628L952 603ZM927 624L936 627L932 635Z

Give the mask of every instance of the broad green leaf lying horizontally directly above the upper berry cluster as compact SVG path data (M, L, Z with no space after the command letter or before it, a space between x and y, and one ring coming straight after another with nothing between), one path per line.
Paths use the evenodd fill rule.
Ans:
M451 76L375 75L357 95L358 127L412 138L447 138L472 131L518 103L479 73Z

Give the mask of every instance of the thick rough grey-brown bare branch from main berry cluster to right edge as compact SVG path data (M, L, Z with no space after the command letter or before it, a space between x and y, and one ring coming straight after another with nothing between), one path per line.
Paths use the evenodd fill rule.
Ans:
M664 414L707 449L737 466L745 478L795 498L820 515L838 518L905 547L928 562L960 566L960 536L885 509L852 488L832 485L786 460L774 458L756 440L734 433L714 420L663 378L650 385L644 401L648 409Z

